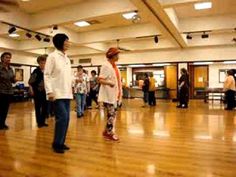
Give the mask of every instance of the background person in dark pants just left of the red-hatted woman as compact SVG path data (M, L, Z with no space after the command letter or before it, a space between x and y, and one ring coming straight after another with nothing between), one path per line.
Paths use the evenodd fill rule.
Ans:
M97 98L97 94L98 94L98 89L99 89L99 84L97 81L97 77L96 77L96 71L92 70L91 71L91 77L89 79L90 82L90 92L89 92L89 100L88 100L88 109L92 108L92 101L94 100L97 107L98 107L98 98Z

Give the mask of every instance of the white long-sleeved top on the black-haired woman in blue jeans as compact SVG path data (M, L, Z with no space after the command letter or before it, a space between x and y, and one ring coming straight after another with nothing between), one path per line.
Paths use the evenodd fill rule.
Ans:
M46 93L53 93L55 99L72 99L72 75L70 59L61 51L49 54L45 70L44 82Z

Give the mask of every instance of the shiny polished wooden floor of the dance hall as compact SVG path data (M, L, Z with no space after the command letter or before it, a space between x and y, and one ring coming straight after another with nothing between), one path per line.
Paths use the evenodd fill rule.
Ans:
M54 119L37 128L32 102L13 103L0 131L0 177L236 177L236 111L220 103L191 101L189 109L157 101L124 100L117 118L121 141L101 136L96 109L77 119L71 111L67 144L51 149ZM73 108L74 106L72 106Z

